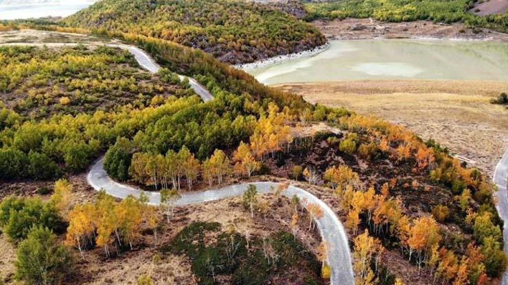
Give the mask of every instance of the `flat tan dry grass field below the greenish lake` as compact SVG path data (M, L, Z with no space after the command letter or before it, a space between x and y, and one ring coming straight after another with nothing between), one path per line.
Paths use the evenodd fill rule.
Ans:
M277 87L313 103L406 125L487 175L508 147L508 109L489 103L508 90L508 82L368 80Z

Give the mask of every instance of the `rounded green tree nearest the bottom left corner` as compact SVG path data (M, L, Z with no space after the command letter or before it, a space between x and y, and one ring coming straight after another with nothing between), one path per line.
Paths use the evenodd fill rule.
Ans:
M19 243L17 258L16 277L27 284L61 284L73 264L70 253L47 227L30 230Z

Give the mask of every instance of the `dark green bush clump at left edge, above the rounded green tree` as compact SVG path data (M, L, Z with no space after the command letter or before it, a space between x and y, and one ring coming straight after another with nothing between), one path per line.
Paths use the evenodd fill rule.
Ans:
M47 227L61 232L64 223L53 203L38 198L7 197L0 203L0 226L12 241L27 237L32 227Z

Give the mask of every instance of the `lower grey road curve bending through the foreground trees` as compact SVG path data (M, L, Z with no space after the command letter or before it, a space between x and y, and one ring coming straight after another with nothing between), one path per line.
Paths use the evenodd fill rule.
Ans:
M107 175L106 171L104 171L103 163L104 158L97 160L86 176L88 183L95 190L105 190L109 195L120 199L124 199L128 195L139 197L141 193L144 193L148 197L150 204L158 205L160 203L161 197L159 193L143 191L114 182L113 179ZM275 182L253 182L250 184L257 187L258 193L273 193L273 190L279 186L279 184ZM242 195L248 186L249 184L236 184L202 192L183 193L181 199L176 201L176 205L203 203L228 197L237 197ZM282 195L286 197L297 195L304 203L315 203L321 207L323 210L323 217L321 217L321 219L316 219L316 224L319 228L319 232L321 232L323 240L326 240L330 244L327 257L327 262L332 269L330 284L354 284L354 274L347 236L343 225L338 220L334 211L328 207L325 202L321 201L321 199L318 199L302 188L289 186L287 190L282 191Z

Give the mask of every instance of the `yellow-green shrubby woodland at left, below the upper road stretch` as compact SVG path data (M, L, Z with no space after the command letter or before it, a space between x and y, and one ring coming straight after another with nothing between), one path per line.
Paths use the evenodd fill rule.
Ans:
M27 119L150 106L192 94L171 74L154 77L128 51L111 47L6 46L0 59L1 101Z

